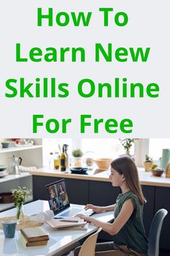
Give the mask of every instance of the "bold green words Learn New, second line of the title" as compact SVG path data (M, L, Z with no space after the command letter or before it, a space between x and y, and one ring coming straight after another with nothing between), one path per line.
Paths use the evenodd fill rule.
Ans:
M82 47L78 48L59 48L58 50L53 47L45 48L45 50L42 50L39 47L33 47L30 49L29 54L27 56L22 56L21 54L21 44L16 44L16 61L17 62L27 62L33 61L33 62L40 62L40 61L46 61L46 62L57 62L57 61L86 61L86 52L85 49ZM116 48L115 51L113 51L112 43L108 43L107 48L104 48L101 43L95 44L95 51L94 51L94 60L96 62L99 62L104 60L107 62L116 61L119 62L126 62L128 60L137 62L139 59L141 61L147 61L148 60L148 54L150 52L150 48L146 48L146 50L143 50L143 48Z

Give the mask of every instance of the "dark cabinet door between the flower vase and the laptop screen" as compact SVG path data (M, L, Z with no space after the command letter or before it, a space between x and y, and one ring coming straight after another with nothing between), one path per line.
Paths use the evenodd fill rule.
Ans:
M32 176L33 200L48 200L45 185L58 181L57 177Z

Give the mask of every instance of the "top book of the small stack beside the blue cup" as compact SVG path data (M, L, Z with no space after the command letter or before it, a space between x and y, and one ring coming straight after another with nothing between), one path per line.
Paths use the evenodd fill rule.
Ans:
M44 229L42 229L40 226L20 229L20 231L27 242L49 240L48 233L45 232Z

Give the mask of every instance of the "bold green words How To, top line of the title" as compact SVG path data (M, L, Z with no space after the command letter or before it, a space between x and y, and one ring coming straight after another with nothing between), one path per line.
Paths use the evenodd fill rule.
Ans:
M113 8L99 8L99 12L103 14L104 27L109 25L109 13L113 12ZM42 8L37 8L37 26L42 26L42 21L48 22L48 26L53 26L53 22L60 27L66 27L73 22L75 27L79 27L80 24L84 27L89 26L89 22L91 20L92 12L79 12L76 14L75 12L58 12L57 14L53 14L53 8L48 8L48 12L42 12ZM55 16L55 17L54 17ZM114 14L115 25L119 27L123 27L128 24L128 14L125 12L117 12Z

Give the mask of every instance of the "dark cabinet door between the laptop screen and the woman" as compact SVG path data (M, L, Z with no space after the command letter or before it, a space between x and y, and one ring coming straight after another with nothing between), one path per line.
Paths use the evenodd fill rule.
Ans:
M89 181L82 179L66 179L69 202L86 205L89 202Z

